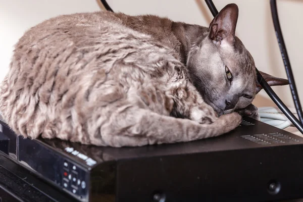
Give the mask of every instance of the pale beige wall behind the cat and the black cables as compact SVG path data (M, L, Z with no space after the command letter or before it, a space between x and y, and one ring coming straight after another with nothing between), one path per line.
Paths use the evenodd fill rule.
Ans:
M217 9L228 3L239 6L237 36L255 58L259 70L286 78L270 13L269 0L214 0ZM294 77L303 103L303 1L278 0L278 12ZM204 0L108 0L115 11L131 15L157 14L175 21L208 26L212 19ZM75 12L100 10L97 0L0 0L0 80L8 70L13 45L24 31L44 19ZM274 87L293 107L288 86ZM263 91L254 102L257 106L274 106Z

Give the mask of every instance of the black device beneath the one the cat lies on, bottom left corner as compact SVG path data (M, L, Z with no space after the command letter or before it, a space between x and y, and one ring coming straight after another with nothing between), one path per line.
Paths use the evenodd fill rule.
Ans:
M74 201L72 197L43 182L2 155L0 155L0 179L2 202Z

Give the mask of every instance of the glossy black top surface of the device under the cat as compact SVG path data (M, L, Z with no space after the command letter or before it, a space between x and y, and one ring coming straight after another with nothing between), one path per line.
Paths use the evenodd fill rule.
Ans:
M97 164L106 161L118 161L135 158L147 158L147 157L159 157L159 156L171 156L171 155L185 155L195 153L210 153L215 151L227 151L227 150L239 150L248 148L261 148L261 147L275 147L281 145L294 145L302 144L303 138L292 133L289 133L279 128L270 126L260 121L245 118L242 124L230 133L208 139L202 139L198 141L175 143L175 144L162 144L162 145L150 145L141 147L100 147L92 145L82 145L80 143L72 143L69 141L61 141L58 139L39 139L43 143L51 146L52 148L61 151L66 154L65 148L71 147L74 150L80 151L80 153L95 160ZM243 136L269 134L269 133L281 133L287 137L293 138L296 141L285 143L271 143L271 144L259 144ZM71 155L70 157L74 157Z

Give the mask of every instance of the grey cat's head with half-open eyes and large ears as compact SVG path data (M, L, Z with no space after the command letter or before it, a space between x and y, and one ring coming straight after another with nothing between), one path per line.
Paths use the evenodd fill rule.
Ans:
M262 89L254 59L235 36L237 20L237 5L224 7L187 58L191 81L219 115L245 108ZM261 73L271 86L288 84L286 79Z

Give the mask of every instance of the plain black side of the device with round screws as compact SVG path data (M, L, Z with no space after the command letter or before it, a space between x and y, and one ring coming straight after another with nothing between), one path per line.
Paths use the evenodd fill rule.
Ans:
M159 191L166 201L300 198L302 168L301 145L142 158L118 163L117 196L147 201ZM275 195L268 191L271 180L281 184Z

